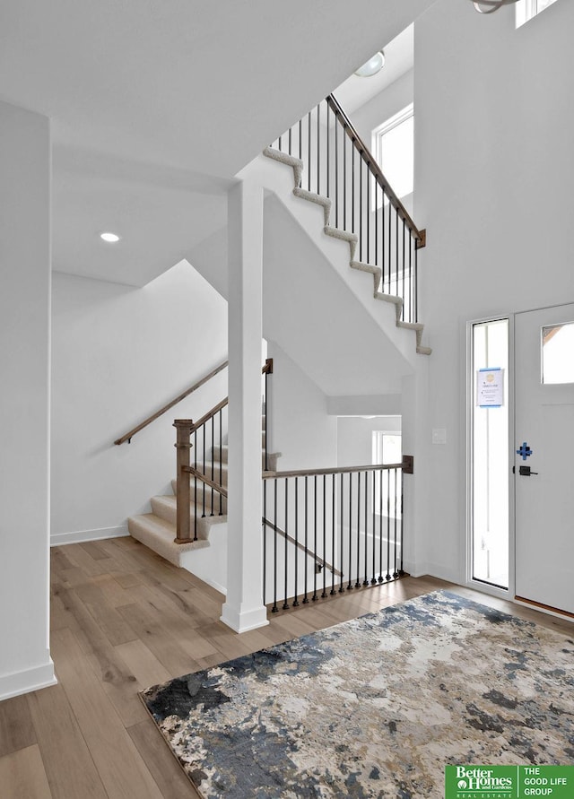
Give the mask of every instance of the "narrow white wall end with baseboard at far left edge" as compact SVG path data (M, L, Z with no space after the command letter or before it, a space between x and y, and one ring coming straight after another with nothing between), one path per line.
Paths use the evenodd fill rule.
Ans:
M54 680L48 651L50 132L0 103L0 699Z

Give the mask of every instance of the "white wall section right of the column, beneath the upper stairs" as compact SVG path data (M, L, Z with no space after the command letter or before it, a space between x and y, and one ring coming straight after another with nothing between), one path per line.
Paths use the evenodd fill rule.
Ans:
M328 468L336 465L336 419L328 416L326 395L281 347L269 341L274 373L268 378L268 449L281 452L277 468Z

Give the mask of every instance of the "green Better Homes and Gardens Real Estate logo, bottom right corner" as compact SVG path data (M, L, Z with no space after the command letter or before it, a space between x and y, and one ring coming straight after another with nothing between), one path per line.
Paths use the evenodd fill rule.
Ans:
M445 766L445 799L573 799L574 766Z

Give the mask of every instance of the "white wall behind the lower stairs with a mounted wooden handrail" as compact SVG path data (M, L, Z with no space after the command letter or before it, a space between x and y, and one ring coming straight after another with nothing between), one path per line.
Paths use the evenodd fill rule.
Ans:
M227 370L131 444L113 441L227 358L227 303L180 262L143 289L53 275L52 543L126 532L171 493L173 420L227 395Z

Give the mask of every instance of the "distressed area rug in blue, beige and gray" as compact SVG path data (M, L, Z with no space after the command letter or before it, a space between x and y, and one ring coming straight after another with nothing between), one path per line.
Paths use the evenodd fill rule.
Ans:
M431 797L446 764L574 762L574 641L437 592L142 699L204 797Z

